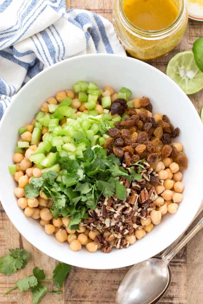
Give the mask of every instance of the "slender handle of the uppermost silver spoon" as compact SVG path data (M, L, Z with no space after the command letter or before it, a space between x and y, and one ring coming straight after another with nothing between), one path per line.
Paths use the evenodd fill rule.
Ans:
M163 260L169 263L172 258L193 238L193 236L203 227L203 217L198 224L168 253Z

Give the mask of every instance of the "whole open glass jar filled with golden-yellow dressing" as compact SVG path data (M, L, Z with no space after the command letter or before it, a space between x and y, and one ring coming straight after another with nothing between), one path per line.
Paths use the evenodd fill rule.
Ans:
M114 0L118 39L133 57L148 60L178 45L188 22L184 0Z

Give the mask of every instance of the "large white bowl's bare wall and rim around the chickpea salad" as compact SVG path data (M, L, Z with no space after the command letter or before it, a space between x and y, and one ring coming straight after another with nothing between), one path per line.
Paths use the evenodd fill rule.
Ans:
M127 87L133 98L151 99L153 113L166 114L180 137L176 141L184 146L188 169L184 171L184 199L175 215L164 216L160 225L127 249L112 250L104 254L90 253L85 248L73 252L69 244L59 243L55 236L44 232L38 220L26 218L13 194L16 182L8 172L16 146L19 127L31 122L43 101L57 91L71 89L77 80L110 85L118 91ZM18 231L42 252L64 263L92 269L120 268L154 256L175 241L195 216L202 199L203 128L196 109L186 94L165 74L142 61L117 55L83 55L61 61L39 73L14 97L0 124L1 176L0 199ZM12 237L12 236L11 236Z

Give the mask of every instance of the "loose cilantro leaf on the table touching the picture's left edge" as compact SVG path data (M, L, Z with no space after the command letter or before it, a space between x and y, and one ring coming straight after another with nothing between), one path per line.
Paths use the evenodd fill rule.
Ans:
M11 275L18 269L24 268L29 260L29 253L25 249L9 249L11 254L6 254L0 259L0 272Z

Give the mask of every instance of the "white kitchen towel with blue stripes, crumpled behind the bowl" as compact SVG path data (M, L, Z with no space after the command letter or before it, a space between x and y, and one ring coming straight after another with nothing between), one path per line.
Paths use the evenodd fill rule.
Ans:
M0 1L0 119L12 96L60 60L89 53L126 55L111 22L93 12L66 11L65 0Z

